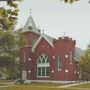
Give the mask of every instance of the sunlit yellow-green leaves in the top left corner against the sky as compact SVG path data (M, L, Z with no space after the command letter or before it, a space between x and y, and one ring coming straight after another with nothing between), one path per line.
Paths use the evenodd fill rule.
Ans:
M22 0L1 1L7 2L9 8L0 7L0 27L2 26L3 30L14 30L19 12L17 1Z

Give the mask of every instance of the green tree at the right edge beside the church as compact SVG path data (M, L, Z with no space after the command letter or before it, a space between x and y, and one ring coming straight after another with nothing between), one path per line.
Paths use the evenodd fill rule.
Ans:
M90 79L90 44L79 62L82 78Z

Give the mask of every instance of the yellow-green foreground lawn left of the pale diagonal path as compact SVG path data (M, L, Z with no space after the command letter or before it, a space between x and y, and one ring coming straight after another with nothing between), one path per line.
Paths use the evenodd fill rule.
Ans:
M10 87L0 87L0 90L77 90L57 88L60 84L22 84Z

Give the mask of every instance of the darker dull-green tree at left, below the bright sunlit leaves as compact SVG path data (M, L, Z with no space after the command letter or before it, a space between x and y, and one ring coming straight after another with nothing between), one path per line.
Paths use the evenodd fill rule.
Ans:
M19 70L19 49L23 47L22 33L0 30L0 68L10 77L16 77Z

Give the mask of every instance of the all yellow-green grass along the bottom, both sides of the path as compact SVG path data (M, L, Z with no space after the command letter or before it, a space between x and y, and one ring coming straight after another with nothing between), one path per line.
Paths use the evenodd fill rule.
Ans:
M9 86L9 87L7 86L8 84L7 85L2 84L2 85L5 87L0 87L0 90L78 90L77 88L83 88L83 89L90 88L90 84L81 84L68 88L58 88L58 86L61 86L63 84L55 84L55 83L15 84L14 86Z

